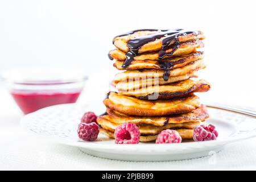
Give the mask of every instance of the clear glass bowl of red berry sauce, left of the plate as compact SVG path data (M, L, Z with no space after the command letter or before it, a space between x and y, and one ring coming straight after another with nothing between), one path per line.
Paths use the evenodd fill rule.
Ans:
M57 104L75 103L86 75L71 68L13 69L3 79L24 114Z

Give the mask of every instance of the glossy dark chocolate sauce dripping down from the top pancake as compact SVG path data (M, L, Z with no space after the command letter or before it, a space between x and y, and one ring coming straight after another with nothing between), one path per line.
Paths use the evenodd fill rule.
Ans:
M162 48L158 52L158 59L162 60L165 56L171 56L174 52L180 47L179 36L187 35L187 34L199 34L197 31L188 31L183 29L174 29L174 30L154 30L154 29L144 29L144 30L134 30L127 32L126 34L118 35L125 36L134 34L137 31L159 31L156 34L141 36L138 38L134 38L129 40L127 43L127 47L129 51L126 53L126 60L122 65L122 68L127 68L134 60L134 57L138 55L139 48L141 48L144 44L149 42L154 42L156 39L160 39L165 37L162 40ZM172 48L171 52L166 52L167 49ZM173 69L173 64L170 61L159 61L160 68L164 69L164 80L168 81L170 76L170 69Z

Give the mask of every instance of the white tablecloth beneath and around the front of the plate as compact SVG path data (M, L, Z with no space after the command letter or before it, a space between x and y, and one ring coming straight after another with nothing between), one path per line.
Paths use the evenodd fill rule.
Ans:
M229 144L214 156L176 162L122 162L96 158L76 147L36 138L19 128L22 117L0 89L0 169L8 170L187 170L256 169L256 138Z

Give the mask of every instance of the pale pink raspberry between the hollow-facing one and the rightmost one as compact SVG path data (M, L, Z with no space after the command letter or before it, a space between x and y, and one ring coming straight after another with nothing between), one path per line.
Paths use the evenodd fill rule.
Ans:
M156 144L163 144L163 143L180 143L181 142L180 134L175 130L163 130L158 135L156 139Z

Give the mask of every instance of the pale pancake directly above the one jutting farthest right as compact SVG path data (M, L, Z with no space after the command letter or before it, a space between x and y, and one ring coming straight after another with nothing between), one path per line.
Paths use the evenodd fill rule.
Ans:
M139 88L144 88L147 86L153 86L155 85L166 85L166 84L171 84L173 82L177 81L183 81L187 80L189 78L197 77L197 72L191 72L185 75L180 75L180 76L172 76L170 77L167 81L165 81L163 78L147 78L147 79L135 79L135 80L129 80L129 81L119 81L119 82L114 82L113 85L117 89L120 90L133 90L133 89L139 89Z

